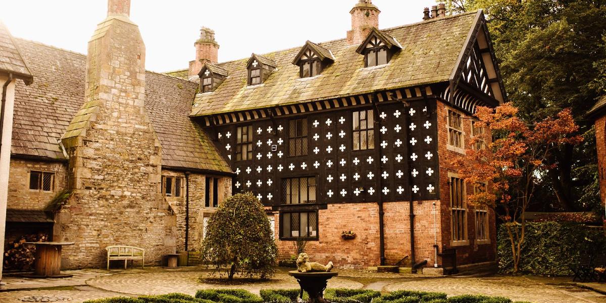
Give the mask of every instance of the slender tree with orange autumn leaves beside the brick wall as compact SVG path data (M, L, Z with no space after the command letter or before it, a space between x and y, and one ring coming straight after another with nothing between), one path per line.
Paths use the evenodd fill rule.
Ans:
M541 173L554 168L548 157L562 144L582 142L581 136L573 135L578 126L569 108L532 124L522 121L517 113L509 103L478 107L474 127L483 127L484 133L471 138L474 148L453 161L467 184L485 184L485 190L467 196L467 203L498 209L495 213L504 222L511 242L514 273L521 260L525 211Z

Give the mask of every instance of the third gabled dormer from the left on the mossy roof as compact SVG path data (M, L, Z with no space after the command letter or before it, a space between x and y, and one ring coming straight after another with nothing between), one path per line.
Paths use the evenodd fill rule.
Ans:
M311 41L305 42L293 64L299 66L299 76L301 78L318 76L322 69L335 62L335 56L330 50L321 47Z

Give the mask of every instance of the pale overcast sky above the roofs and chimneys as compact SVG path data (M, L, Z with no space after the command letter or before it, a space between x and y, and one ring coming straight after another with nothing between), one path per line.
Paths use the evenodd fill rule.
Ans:
M107 0L19 0L3 2L2 20L13 36L86 53L88 38L107 16ZM349 11L358 0L132 0L130 19L139 25L146 68L184 69L194 59L199 28L215 30L219 61L296 47L306 40L345 38ZM379 27L422 21L433 0L374 0Z

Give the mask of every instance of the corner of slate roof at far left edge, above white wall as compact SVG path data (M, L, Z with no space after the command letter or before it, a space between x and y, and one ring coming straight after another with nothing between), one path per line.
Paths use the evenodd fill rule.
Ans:
M19 52L13 36L0 21L0 72L13 73L29 85L33 81L32 73Z

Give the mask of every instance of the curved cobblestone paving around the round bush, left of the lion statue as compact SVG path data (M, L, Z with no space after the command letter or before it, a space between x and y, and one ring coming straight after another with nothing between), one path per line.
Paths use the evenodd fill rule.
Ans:
M198 282L199 271L141 273L132 275L114 275L90 279L87 284L102 290L130 293L135 295L161 295L164 293L187 293L194 295L196 290L208 288L242 288L259 293L263 288L298 288L299 284L291 276L278 273L271 281L255 284L218 285ZM362 288L362 283L344 278L333 278L328 287Z

